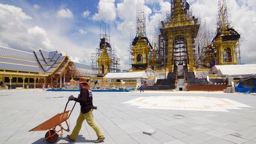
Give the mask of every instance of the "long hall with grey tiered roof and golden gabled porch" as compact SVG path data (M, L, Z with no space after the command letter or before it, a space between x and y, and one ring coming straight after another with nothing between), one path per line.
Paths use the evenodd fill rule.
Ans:
M72 78L92 76L91 65L72 62L57 51L25 52L0 46L1 88L62 88Z

